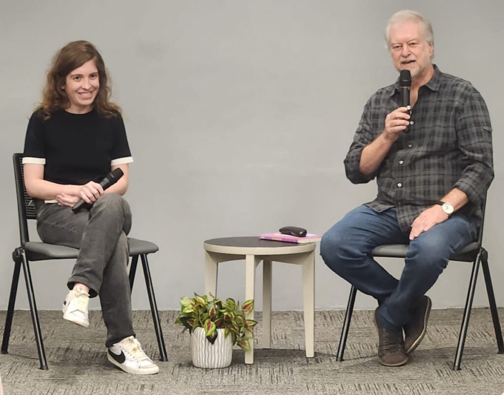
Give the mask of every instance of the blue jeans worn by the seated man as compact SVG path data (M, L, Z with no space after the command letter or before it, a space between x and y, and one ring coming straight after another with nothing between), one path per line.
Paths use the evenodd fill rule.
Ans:
M399 228L395 208L383 212L362 205L345 215L322 238L321 255L336 274L379 302L380 323L389 329L407 324L411 311L448 265L449 257L476 239L467 217L454 213L409 241ZM401 278L371 257L374 247L408 244Z

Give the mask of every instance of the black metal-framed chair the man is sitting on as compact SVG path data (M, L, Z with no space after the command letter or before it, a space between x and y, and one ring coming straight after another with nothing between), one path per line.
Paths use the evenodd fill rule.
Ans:
M486 198L483 202L482 212L483 218L485 216ZM462 318L462 325L459 332L459 343L457 345L457 352L455 353L455 360L453 362L453 370L460 370L462 361L462 353L464 352L464 344L466 341L467 327L469 325L469 317L471 315L471 307L474 298L474 290L476 289L476 278L478 276L478 269L481 263L483 268L483 275L485 277L486 292L488 294L488 303L490 305L490 312L492 314L493 328L495 330L495 338L497 340L498 354L504 354L504 343L502 343L502 332L500 330L499 317L497 313L497 306L495 304L495 296L493 294L492 280L490 278L490 270L488 268L488 252L481 246L483 240L483 220L479 229L478 241L473 242L457 251L450 260L461 262L473 262L471 280L469 281L469 288L467 291L466 306L464 308L464 316ZM373 257L384 258L405 258L408 251L407 244L389 244L378 246L371 252ZM355 295L357 290L352 286L350 289L350 297L348 298L348 305L345 313L345 321L341 329L340 344L338 346L338 355L336 360L343 361L343 354L345 352L345 345L350 328L350 320L352 319L353 305L355 302Z

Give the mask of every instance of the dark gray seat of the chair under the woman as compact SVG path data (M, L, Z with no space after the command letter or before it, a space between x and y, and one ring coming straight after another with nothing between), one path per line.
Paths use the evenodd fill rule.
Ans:
M130 246L130 256L140 254L150 254L159 250L154 243L128 238ZM77 248L59 246L42 242L27 242L25 244L26 255L31 261L47 259L76 259L79 255Z

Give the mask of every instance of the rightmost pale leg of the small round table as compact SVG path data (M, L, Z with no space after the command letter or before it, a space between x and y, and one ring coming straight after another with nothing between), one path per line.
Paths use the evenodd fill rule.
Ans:
M306 358L314 357L314 312L315 312L315 254L312 252L303 262L303 310L304 310L304 343Z

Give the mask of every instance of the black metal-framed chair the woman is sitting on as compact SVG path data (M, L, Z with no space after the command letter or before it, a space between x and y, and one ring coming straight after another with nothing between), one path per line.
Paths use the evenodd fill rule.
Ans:
M12 319L14 316L14 305L16 302L16 293L19 283L19 274L21 271L21 266L23 266L23 272L26 281L26 291L28 293L28 302L30 304L30 313L33 323L33 331L35 333L38 358L40 361L40 369L47 370L47 360L45 358L44 343L42 340L42 331L40 330L37 305L35 303L35 294L33 292L29 261L41 261L48 259L76 259L79 254L79 250L66 246L30 241L28 236L27 219L36 219L36 214L35 208L30 205L31 198L26 192L23 179L22 158L23 154L16 153L13 155L16 193L18 198L19 233L21 238L21 246L16 248L12 253L12 259L14 260L14 274L12 277L11 295L9 297L9 307L5 321L2 354L8 354L9 338L11 336ZM159 360L167 361L168 357L166 355L166 347L164 344L163 332L161 330L161 322L159 319L156 298L154 296L154 288L152 286L149 262L147 261L147 254L156 252L159 248L154 243L144 240L128 238L128 241L130 246L130 256L132 257L130 266L130 287L133 290L135 273L137 271L138 257L140 256L142 260L142 267L144 269L145 284L147 286L147 294L149 296L152 319L154 321L154 329L156 331L156 337L159 346Z

